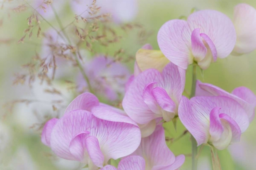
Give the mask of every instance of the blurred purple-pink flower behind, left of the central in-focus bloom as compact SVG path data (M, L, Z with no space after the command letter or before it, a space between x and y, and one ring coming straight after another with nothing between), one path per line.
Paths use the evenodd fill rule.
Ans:
M130 77L128 68L110 57L98 56L85 65L85 73L97 95L114 101L125 93L125 84ZM87 91L82 74L77 79L78 90Z

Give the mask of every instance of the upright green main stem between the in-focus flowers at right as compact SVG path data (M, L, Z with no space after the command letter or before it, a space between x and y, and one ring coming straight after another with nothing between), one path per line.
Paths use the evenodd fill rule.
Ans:
M195 96L196 92L196 71L197 66L193 65L193 73L192 73L192 87L190 92L190 98ZM192 143L192 170L197 170L197 141L196 139L191 135L191 143Z

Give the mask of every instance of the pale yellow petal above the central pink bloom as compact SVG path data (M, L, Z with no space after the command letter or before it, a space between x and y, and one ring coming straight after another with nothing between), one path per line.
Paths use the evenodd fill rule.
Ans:
M170 61L160 50L139 49L136 53L136 62L141 71L154 68L162 71Z

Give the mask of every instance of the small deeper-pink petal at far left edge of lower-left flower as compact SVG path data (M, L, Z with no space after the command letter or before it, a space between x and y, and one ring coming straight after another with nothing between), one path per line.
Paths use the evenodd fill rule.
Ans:
M42 135L41 135L41 141L44 145L51 147L51 133L53 130L54 125L59 119L52 118L51 120L48 120L43 128Z

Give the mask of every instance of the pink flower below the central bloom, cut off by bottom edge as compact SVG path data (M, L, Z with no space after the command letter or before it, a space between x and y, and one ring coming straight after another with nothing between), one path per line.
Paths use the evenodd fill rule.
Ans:
M176 170L185 161L184 155L175 158L167 147L165 131L160 124L156 126L152 135L141 139L139 148L132 155L139 155L145 159L145 170Z

